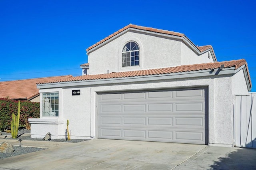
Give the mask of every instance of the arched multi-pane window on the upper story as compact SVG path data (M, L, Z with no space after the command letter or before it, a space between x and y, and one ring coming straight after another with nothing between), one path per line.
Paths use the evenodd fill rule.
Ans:
M122 66L139 65L139 46L136 42L128 42L122 51Z

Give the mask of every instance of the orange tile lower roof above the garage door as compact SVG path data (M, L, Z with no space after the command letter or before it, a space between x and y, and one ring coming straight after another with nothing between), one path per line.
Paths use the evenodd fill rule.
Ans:
M252 82L251 82L249 71L248 71L248 65L247 65L245 59L214 62L214 63L202 63L202 64L194 64L194 65L181 65L181 66L177 66L177 67L168 67L168 68L160 68L160 69L126 71L126 72L98 74L98 75L82 75L82 76L78 76L78 77L68 77L65 79L48 81L48 82L37 83L37 84L95 80L95 79L110 79L110 78L122 78L122 77L135 77L135 76L145 76L145 75L161 75L161 74L188 72L188 71L199 71L199 70L207 70L207 69L217 69L217 68L220 68L220 65L222 65L222 64L224 64L224 68L235 67L235 70L238 69L239 67L241 67L242 65L246 65L248 79L250 81L250 86L252 87Z

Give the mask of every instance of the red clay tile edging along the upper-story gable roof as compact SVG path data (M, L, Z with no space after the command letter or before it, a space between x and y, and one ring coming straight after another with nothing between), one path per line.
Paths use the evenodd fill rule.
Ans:
M184 37L186 38L189 42L191 42L195 47L197 47L191 40L188 39L187 36L185 36L184 34L182 33L179 33L179 32L173 32L173 31L168 31L168 30L160 30L160 29L156 29L156 28L150 28L150 27L143 27L143 26L137 26L137 25L134 25L134 24L129 24L128 26L125 26L124 28L121 28L120 30L114 32L113 34L110 34L109 36L107 36L106 38L100 40L99 42L95 43L94 45L88 47L86 49L86 51L89 51L90 49L96 47L97 45L105 42L106 40L114 37L115 35L119 34L120 32L123 32L124 30L128 29L128 28L136 28L138 30L146 30L146 31L151 31L151 32L157 32L157 33L161 33L161 34L168 34L168 35L172 35L172 36L179 36L179 37ZM214 55L214 58L216 59L216 56L214 54L214 51L213 51L213 48L212 48L212 45L205 45L205 46L200 46L200 47L197 47L201 52L207 50L207 49L212 49L212 52L213 52L213 55ZM217 59L216 59L217 61Z

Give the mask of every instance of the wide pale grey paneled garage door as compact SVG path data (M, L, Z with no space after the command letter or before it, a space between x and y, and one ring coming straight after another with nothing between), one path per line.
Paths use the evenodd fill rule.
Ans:
M206 88L101 93L98 138L207 144Z

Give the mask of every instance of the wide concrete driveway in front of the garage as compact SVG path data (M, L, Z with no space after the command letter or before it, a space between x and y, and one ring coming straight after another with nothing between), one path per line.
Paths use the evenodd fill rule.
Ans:
M53 142L54 144L54 142ZM0 160L0 169L256 169L256 150L95 139Z

